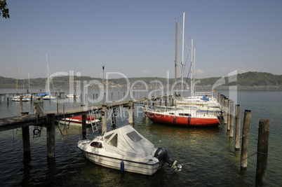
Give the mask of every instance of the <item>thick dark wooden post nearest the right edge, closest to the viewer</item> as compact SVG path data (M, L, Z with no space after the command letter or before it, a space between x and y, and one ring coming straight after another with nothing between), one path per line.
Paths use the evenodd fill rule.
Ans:
M265 186L266 184L269 127L270 120L260 120L257 139L257 172L255 174L255 186Z

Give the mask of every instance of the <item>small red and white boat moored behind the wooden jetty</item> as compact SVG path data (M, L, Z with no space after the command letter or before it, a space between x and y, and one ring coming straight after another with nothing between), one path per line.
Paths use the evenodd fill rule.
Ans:
M98 122L100 122L100 120L95 116L86 115L86 125L94 125L95 123ZM69 118L63 118L62 120L60 120L60 124L81 126L82 116L72 116Z

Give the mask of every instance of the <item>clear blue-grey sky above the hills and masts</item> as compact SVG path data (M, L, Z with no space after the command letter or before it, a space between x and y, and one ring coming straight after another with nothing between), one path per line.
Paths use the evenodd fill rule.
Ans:
M0 76L51 74L102 78L184 77L196 48L196 77L246 71L282 74L282 1L243 0L7 0L0 18ZM62 73L64 72L64 73Z

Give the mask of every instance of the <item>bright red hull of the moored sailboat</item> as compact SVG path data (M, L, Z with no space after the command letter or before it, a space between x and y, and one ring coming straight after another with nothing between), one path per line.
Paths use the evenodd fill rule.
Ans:
M154 123L164 123L170 125L215 127L220 125L218 118L196 118L187 116L173 116L162 113L145 111L146 116Z

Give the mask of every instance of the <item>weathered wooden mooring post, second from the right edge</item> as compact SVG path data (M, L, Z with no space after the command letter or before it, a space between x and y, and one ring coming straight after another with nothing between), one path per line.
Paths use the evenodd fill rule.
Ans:
M245 110L243 121L243 138L242 138L242 150L241 150L241 170L247 169L248 166L248 143L250 136L250 118L251 111Z

